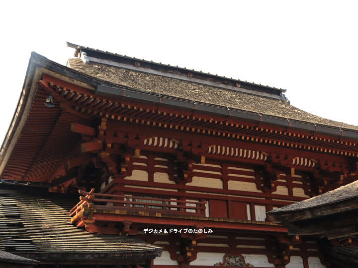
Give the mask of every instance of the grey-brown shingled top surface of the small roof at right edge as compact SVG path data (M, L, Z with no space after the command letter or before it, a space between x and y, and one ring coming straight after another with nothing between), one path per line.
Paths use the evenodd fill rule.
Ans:
M268 213L270 214L275 212L279 213L279 212L286 212L286 211L302 210L306 208L313 208L313 207L322 206L339 201L345 201L357 197L358 197L358 181L355 181L353 183L347 184L330 192L324 193L320 196L316 196L290 205L282 206L280 208L276 208L272 211L269 211Z

